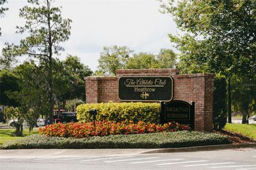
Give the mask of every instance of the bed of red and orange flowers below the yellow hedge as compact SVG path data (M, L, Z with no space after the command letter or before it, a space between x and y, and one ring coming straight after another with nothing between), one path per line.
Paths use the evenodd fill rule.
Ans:
M69 123L69 124L52 124L45 128L40 128L39 132L46 136L56 137L72 137L72 138L86 138L90 136L109 136L115 134L143 134L154 132L175 132L189 130L187 125L180 125L177 122L170 122L168 124L158 125L145 122L125 123L125 122L93 122L86 123Z

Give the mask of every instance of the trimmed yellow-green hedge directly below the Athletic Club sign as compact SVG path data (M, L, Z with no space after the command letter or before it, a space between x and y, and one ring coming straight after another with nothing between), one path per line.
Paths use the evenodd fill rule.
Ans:
M97 121L110 122L150 122L159 124L159 103L92 103L77 106L76 113L79 122L92 122L93 116L89 110L96 109Z

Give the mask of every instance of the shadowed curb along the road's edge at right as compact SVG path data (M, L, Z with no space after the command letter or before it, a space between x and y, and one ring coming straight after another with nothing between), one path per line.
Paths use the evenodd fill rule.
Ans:
M255 148L256 143L241 143L241 144L228 144L228 145L209 145L209 146L191 146L184 148L161 148L153 149L140 154L146 153L172 153L172 152L198 152L198 151L211 151L211 150L227 150L236 148Z

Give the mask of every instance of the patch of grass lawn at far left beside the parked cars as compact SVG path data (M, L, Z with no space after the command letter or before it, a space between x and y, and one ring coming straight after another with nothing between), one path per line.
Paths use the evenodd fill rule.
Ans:
M17 140L23 137L16 137L13 135L15 129L0 129L0 145L6 143L7 141ZM33 129L31 134L38 134L38 129ZM28 129L23 129L23 135L29 136Z

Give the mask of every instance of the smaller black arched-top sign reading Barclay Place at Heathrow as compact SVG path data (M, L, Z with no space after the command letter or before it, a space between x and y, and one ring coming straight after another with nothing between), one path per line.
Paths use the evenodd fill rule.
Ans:
M161 123L179 122L189 124L191 129L195 127L195 103L189 104L186 101L170 101L161 103Z

